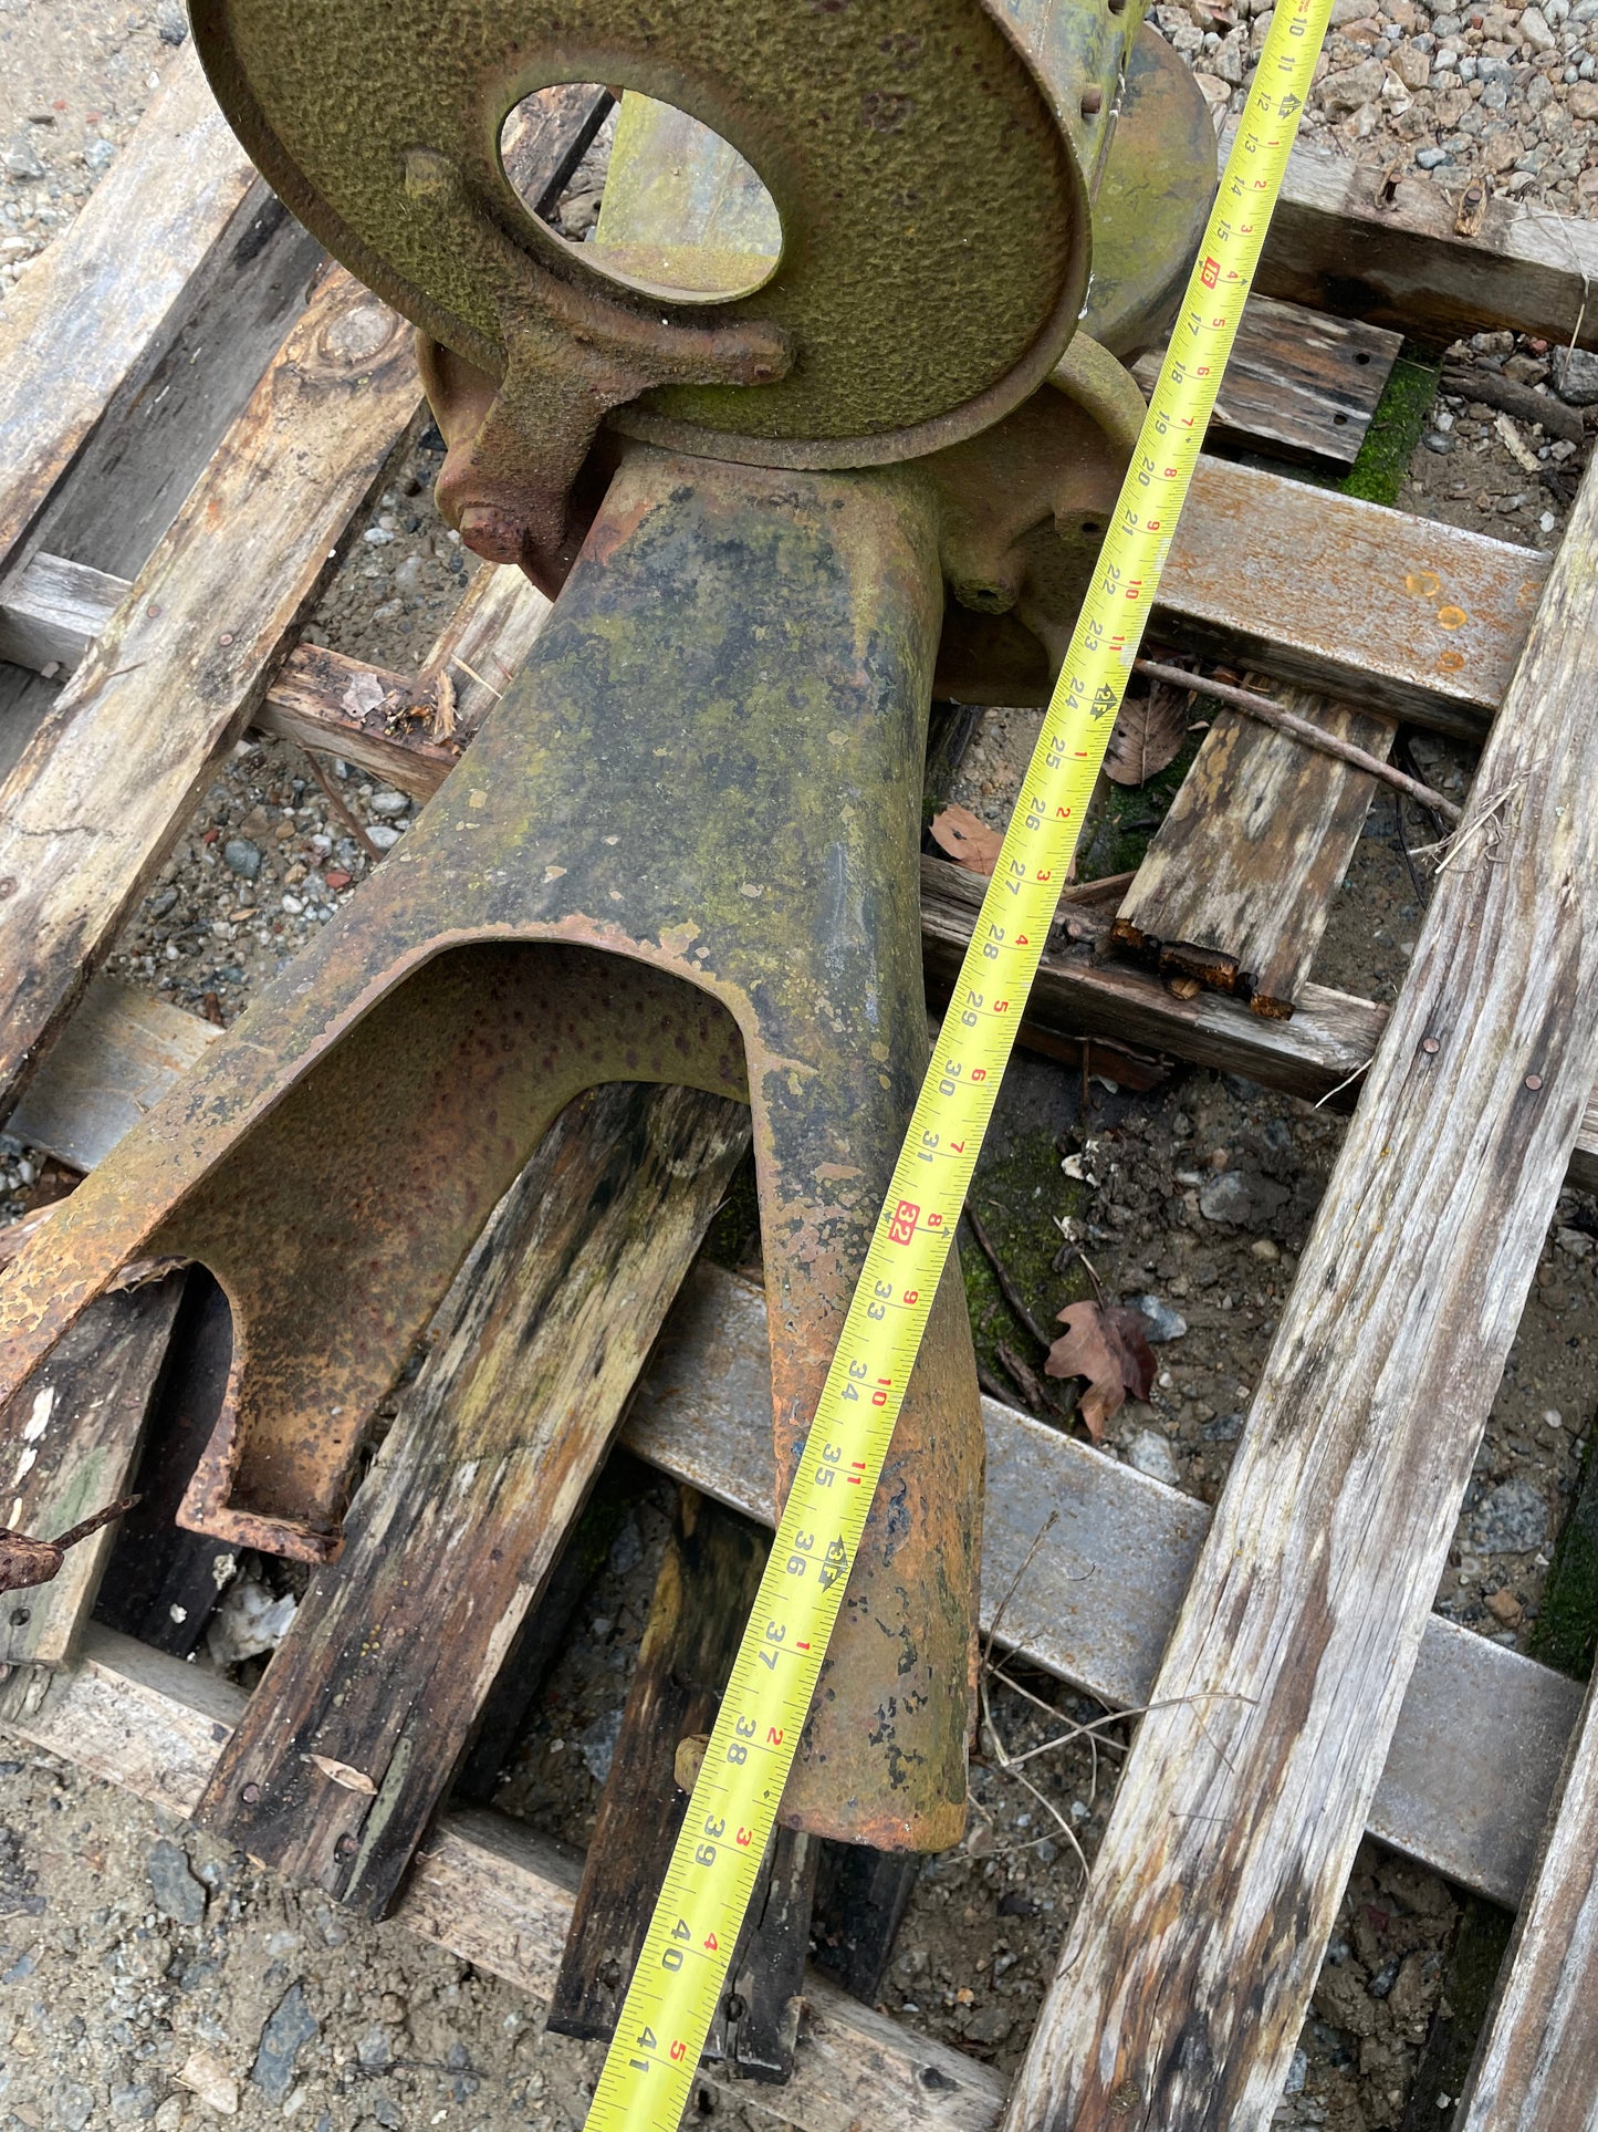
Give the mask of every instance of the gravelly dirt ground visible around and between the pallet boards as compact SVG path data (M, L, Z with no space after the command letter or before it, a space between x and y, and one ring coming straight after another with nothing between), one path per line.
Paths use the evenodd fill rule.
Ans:
M1255 0L1159 6L1153 19L1217 109L1236 107L1263 34ZM1402 158L1449 192L1487 175L1528 203L1592 209L1598 0L1460 15L1336 0L1334 19L1308 113L1332 145ZM4 288L115 158L181 34L168 0L0 0L0 318ZM1389 499L1502 539L1555 542L1581 454L1528 426L1504 431L1487 401L1432 401L1436 354L1406 352L1425 420L1406 433ZM1509 337L1455 356L1532 388L1549 384L1551 358ZM396 454L309 637L390 667L420 663L471 569L430 503L437 461L426 433ZM984 714L952 795L1001 823L1036 725L1027 712ZM1445 793L1466 789L1464 750L1428 736L1413 750ZM232 1021L405 836L413 810L401 793L339 765L328 785L294 746L245 742L117 942L113 974ZM1155 802L1138 806L1116 836L1146 836ZM1406 853L1432 838L1413 806L1376 800L1321 983L1396 994L1430 878ZM974 1194L999 1254L1042 1320L1085 1292L1085 1254L1104 1292L1151 1311L1165 1335L1151 1401L1110 1420L1104 1456L1214 1499L1342 1130L1327 1111L1229 1077L1176 1072L1146 1094L1091 1079L1085 1092L1070 1068L1018 1062ZM66 1183L38 1151L0 1138L0 1217ZM980 1254L967 1245L965 1258L984 1367L1004 1369L999 1343L1036 1367ZM1596 1343L1598 1205L1564 1194L1438 1590L1442 1612L1511 1646L1536 1633L1598 1405ZM575 1846L592 1827L669 1512L665 1484L626 1512L499 1793L503 1810ZM993 1731L974 1759L969 1834L923 1870L882 1991L891 2013L999 2068L1025 2049L1129 1735L1127 1725L1085 1733L1097 1706L1012 1674L1016 1686L993 1689ZM1027 1784L1001 1767L1057 1735ZM541 2010L507 1985L396 1927L303 1900L70 1765L0 1742L6 1755L0 2128L582 2121L599 2053L548 2036ZM1449 2121L1449 2098L1415 2091L1415 2068L1457 1910L1436 1876L1361 1851L1278 2123ZM733 2128L784 2121L778 2091L701 2109Z

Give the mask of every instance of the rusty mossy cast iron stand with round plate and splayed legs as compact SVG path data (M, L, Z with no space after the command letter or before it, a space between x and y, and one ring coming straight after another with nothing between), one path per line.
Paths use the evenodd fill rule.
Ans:
M1212 192L1204 102L1136 0L194 17L260 168L415 320L445 516L558 597L384 870L19 1254L0 1396L128 1258L202 1260L234 1364L183 1518L330 1561L550 1121L678 1081L752 1109L786 1475L927 1057L927 708L1048 676L1142 416L1123 358ZM592 245L501 151L573 81L629 92ZM786 1823L957 1840L980 1477L950 1269Z

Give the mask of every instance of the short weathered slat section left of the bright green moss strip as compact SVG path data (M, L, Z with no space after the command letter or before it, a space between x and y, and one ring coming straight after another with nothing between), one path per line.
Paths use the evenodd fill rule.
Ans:
M1402 345L1383 326L1251 296L1206 437L1351 467ZM1144 397L1161 358L1148 350L1131 369Z

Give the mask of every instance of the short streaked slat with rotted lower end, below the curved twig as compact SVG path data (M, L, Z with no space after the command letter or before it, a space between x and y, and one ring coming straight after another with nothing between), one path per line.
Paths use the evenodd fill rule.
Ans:
M1285 691L1285 708L1387 759L1398 727ZM1376 780L1221 706L1148 842L1110 938L1285 1021L1321 944Z

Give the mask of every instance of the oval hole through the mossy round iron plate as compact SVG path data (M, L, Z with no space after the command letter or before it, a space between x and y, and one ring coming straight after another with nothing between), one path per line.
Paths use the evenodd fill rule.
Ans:
M597 107L614 94L614 85L584 87ZM588 154L550 196L543 158L533 149L554 96L571 98L573 90L535 90L507 113L499 154L522 207L586 266L671 303L729 303L771 279L782 262L778 205L731 141L675 104L624 90ZM637 154L643 141L648 154ZM673 241L631 243L626 232L641 226L665 226Z

